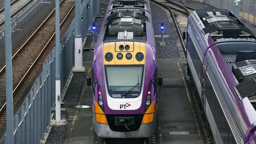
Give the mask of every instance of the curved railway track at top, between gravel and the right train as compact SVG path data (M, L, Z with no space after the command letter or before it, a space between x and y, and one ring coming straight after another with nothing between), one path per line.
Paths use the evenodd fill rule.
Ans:
M182 46L182 50L186 56L187 50L185 46L185 42L182 39L182 32L187 28L187 17L189 13L194 11L195 9L173 2L171 0L151 0L155 4L163 7L171 14L171 18L173 20L174 27L178 33L178 38L180 40L180 44Z

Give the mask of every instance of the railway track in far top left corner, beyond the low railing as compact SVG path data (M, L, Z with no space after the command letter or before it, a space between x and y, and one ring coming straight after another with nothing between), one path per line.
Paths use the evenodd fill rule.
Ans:
M28 6L30 3L32 3L34 0L28 0L27 2L25 0L14 0L11 2L11 18L13 18L17 13L22 11L26 6ZM24 4L25 3L25 4ZM0 10L0 27L3 26L5 23L4 20L4 8Z

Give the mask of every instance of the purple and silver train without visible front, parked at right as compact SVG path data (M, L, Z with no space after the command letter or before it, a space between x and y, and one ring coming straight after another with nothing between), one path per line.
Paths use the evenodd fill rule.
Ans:
M217 144L256 143L256 37L231 12L188 17L188 74Z

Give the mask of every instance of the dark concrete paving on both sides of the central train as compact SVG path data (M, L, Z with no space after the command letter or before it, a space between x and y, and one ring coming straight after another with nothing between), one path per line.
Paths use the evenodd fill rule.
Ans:
M91 61L84 62L84 75L91 68ZM159 93L158 122L156 137L158 144L204 144L197 119L189 100L184 79L186 59L158 59L158 72L163 76ZM94 129L92 111L76 108L77 105L91 105L91 94L86 81L80 92L78 103L64 103L66 116L78 116L66 125L64 144L92 144Z

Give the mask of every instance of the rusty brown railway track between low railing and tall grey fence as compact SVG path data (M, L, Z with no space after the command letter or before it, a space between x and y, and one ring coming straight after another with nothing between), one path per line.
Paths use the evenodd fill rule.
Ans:
M61 32L74 15L74 0L60 2ZM55 45L55 9L13 55L13 105L16 107L33 85L46 56ZM6 72L0 70L0 127L6 122Z

